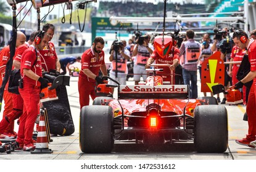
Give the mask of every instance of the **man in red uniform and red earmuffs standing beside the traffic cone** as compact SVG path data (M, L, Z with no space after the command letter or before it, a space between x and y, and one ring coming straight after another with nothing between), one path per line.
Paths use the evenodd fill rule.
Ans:
M40 89L46 88L47 79L42 77L41 56L39 50L48 44L49 37L44 31L40 31L33 44L25 50L22 55L20 73L23 79L23 87L19 88L20 95L23 98L23 114L20 117L17 142L23 151L33 151L33 128L38 115L38 103ZM21 85L21 84L20 84Z

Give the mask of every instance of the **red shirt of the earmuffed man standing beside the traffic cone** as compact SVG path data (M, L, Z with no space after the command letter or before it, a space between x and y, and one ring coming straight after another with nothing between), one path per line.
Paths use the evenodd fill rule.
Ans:
M40 82L30 79L27 76L24 76L23 69L31 69L31 71L35 72L38 76L42 76L42 69L41 69L41 58L40 53L37 52L38 57L36 58L35 47L31 45L25 52L22 54L22 61L20 63L20 72L23 77L24 83L27 82L31 85L40 87ZM36 63L35 63L35 60ZM35 63L35 65L33 65Z

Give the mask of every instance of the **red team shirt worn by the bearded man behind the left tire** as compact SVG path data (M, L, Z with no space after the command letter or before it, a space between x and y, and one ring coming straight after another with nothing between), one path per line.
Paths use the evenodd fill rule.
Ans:
M98 76L101 65L105 65L104 55L104 52L101 51L101 53L99 53L99 59L97 59L93 52L93 47L91 47L91 49L86 50L81 58L80 76L83 77L83 79L88 80L89 82L96 82L94 79L91 79L88 76L86 76L86 74L83 72L83 69L89 69L96 76Z

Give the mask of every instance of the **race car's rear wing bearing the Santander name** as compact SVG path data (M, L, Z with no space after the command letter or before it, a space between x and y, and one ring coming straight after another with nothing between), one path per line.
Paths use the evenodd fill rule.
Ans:
M120 85L118 99L188 99L189 85Z

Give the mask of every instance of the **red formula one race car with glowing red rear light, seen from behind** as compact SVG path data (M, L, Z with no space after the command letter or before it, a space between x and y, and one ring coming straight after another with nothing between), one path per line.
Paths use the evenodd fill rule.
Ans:
M115 141L134 144L194 142L197 152L225 152L228 117L214 97L189 100L188 85L163 85L152 69L145 85L99 84L99 95L80 113L80 149L111 152ZM110 87L118 87L118 98Z

